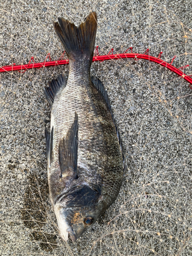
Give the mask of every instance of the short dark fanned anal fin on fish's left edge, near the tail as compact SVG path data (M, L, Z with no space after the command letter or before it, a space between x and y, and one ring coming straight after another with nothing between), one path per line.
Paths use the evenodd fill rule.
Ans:
M49 87L46 86L44 88L44 93L50 106L52 106L57 92L60 90L60 88L66 87L66 80L65 77L62 74L60 74L56 79L51 80L51 82L49 81L48 84Z

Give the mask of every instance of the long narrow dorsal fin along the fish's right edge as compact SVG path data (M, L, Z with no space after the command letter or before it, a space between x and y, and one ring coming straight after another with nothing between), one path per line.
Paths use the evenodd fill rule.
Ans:
M109 111L112 115L112 119L113 119L113 122L115 124L115 130L116 130L116 133L117 133L117 137L118 137L118 140L119 140L119 145L120 145L121 152L122 152L122 157L123 157L123 172L125 172L127 167L126 167L125 157L124 157L124 153L123 153L123 145L122 145L122 142L121 142L121 137L120 137L120 134L119 134L119 130L117 129L117 125L116 125L116 122L115 122L115 119L114 119L114 116L113 116L113 112L112 112L112 108L111 108L108 93L104 89L103 83L97 77L92 77L91 80L92 80L94 86L96 87L96 89L98 90L98 92L102 95L102 97L105 100L106 105L108 106Z

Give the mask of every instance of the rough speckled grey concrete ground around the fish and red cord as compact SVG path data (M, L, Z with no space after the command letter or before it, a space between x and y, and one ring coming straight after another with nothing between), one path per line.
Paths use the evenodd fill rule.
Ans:
M53 22L98 15L95 46L107 54L150 49L192 74L192 5L186 1L0 1L0 67L63 53ZM126 155L116 202L76 242L61 240L49 199L43 88L69 67L0 73L1 255L191 255L189 83L152 62L95 62ZM192 87L192 86L191 86Z

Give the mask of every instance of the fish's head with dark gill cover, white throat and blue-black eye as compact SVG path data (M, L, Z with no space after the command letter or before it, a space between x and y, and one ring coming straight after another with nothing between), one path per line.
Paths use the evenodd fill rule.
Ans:
M61 237L67 241L70 234L75 242L91 227L103 212L99 205L99 189L87 185L75 186L55 203L54 211Z

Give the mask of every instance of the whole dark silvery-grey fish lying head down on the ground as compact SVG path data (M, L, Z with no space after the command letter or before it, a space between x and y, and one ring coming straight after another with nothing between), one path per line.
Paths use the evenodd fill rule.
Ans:
M69 58L69 76L45 86L48 183L60 236L75 242L116 200L126 165L108 94L90 75L96 13L79 27L58 17L54 29Z

